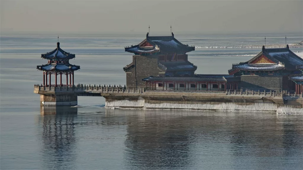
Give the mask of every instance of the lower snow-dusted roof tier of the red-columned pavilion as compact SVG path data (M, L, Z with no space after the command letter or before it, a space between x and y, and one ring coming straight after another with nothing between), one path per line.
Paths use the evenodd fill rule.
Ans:
M55 71L55 72L72 72L75 70L79 70L80 66L72 65L72 64L45 64L45 65L38 65L38 70L42 71Z

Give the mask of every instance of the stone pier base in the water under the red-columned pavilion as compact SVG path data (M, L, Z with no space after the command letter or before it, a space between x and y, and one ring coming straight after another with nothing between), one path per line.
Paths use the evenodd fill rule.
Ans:
M78 105L78 96L75 93L40 94L40 105L76 106Z

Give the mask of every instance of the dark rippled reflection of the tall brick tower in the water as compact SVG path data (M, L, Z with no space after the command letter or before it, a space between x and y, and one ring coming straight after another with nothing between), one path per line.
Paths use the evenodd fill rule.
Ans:
M136 111L137 113L140 111ZM128 119L125 159L131 168L184 168L190 165L193 137L184 117L145 110ZM155 113L155 114L153 114ZM160 117L159 117L160 116Z

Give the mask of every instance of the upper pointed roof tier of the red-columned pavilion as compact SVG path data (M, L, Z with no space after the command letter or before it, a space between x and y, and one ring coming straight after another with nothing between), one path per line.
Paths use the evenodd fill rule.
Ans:
M51 52L41 54L41 57L44 59L72 59L75 58L75 54L70 54L68 52L63 51L60 48L60 43L57 42L57 48Z

